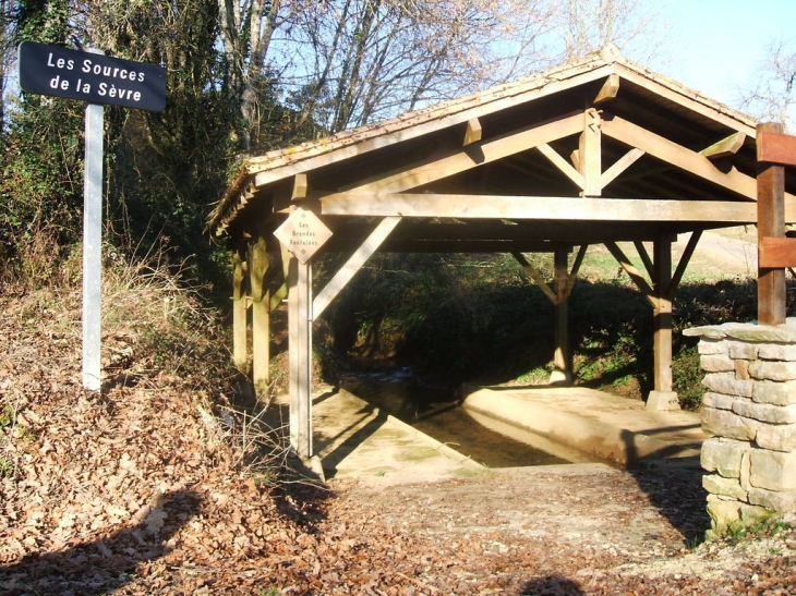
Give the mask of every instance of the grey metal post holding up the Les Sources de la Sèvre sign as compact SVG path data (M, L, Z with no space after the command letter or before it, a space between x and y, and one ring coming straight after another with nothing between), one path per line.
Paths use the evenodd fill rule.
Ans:
M101 50L88 52L104 54ZM105 107L86 105L83 186L83 387L99 391L102 302L102 134Z

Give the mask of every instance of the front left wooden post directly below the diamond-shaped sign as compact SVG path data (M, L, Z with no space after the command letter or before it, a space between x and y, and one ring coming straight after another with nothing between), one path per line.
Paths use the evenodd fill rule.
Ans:
M290 447L302 460L312 446L312 266L291 256L288 271Z

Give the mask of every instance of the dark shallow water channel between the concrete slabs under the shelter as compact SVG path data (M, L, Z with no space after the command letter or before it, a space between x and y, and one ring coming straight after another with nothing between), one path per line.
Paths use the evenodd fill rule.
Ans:
M410 368L354 372L341 385L487 467L594 461L575 449L461 408L453 390L421 382Z

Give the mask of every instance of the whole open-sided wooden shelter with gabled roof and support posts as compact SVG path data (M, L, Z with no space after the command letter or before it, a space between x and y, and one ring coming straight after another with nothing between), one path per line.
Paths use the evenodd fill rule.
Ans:
M672 301L700 234L757 221L756 125L606 48L248 159L210 218L236 259L236 362L246 362L251 306L254 381L267 382L269 313L289 295L291 441L310 457L312 321L367 258L376 251L503 252L515 254L555 304L552 380L568 382L567 296L587 247L604 244L651 304L648 403L665 408L676 402ZM784 220L795 219L796 203L785 194ZM672 243L685 232L692 232L688 247L673 263ZM635 243L643 270L619 242ZM350 256L313 296L313 254L328 251ZM269 269L279 252L284 266ZM552 285L522 256L534 252L554 255Z

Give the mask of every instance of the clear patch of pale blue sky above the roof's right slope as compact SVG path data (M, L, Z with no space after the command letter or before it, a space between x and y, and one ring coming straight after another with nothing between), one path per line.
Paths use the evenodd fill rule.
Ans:
M753 86L773 40L792 39L796 50L793 0L660 0L658 5L670 29L651 66L723 104L737 105L738 88Z

